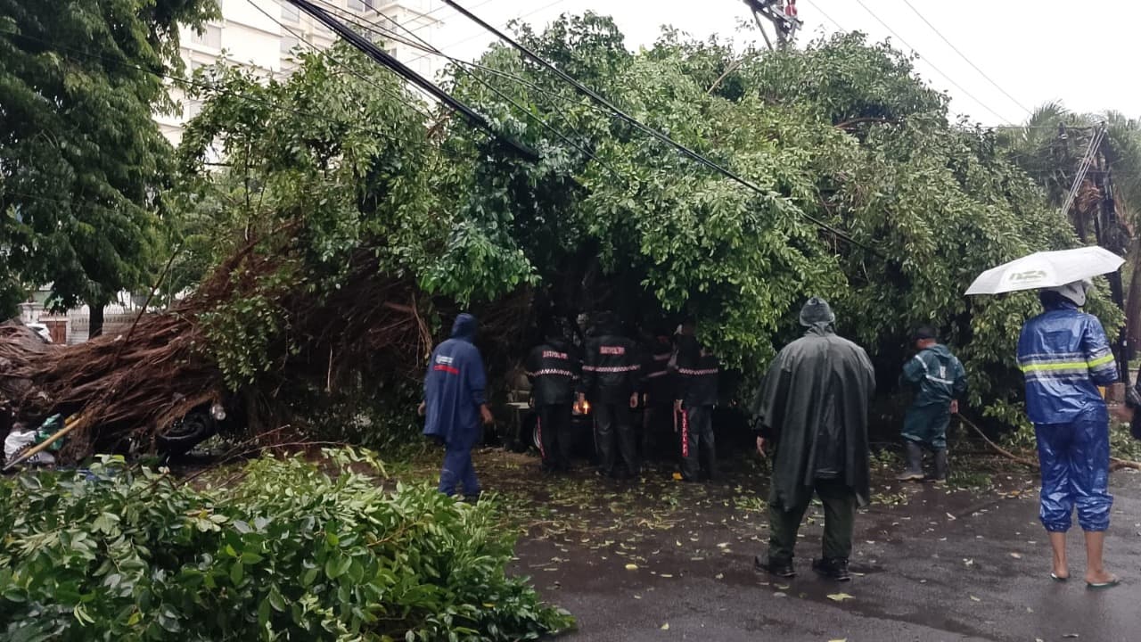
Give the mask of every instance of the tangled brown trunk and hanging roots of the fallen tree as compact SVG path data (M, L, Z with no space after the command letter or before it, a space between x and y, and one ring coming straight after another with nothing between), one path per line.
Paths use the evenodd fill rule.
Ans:
M280 243L250 243L171 310L143 315L128 336L105 336L59 348L38 346L15 327L0 332L5 396L29 422L81 415L62 452L79 459L121 450L124 440L149 449L155 436L191 410L221 402L241 407L253 432L289 420L289 394L313 384L327 391L361 371L415 377L432 337L416 311L414 287L375 272L358 252L346 287L313 294L266 279L292 272ZM259 303L260 302L260 303ZM235 306L257 308L264 330L219 338ZM219 327L219 324L221 327ZM253 374L233 363L234 342L264 351ZM228 360L228 361L227 361ZM235 403L236 401L236 403Z

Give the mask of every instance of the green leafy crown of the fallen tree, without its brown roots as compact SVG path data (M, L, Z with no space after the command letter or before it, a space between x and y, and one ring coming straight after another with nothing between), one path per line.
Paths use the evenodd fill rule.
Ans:
M337 266L367 249L380 271L461 304L527 287L540 314L612 308L642 323L694 314L703 339L746 376L799 331L800 304L823 295L890 380L908 330L938 326L968 366L974 402L1018 420L1014 342L1037 303L962 292L987 267L1078 240L1001 141L948 120L947 97L909 58L860 34L741 53L666 31L631 53L609 19L590 14L519 35L761 193L513 50L493 47L478 67L452 69L448 87L537 150L537 163L458 119L426 118L387 72L338 49L354 73L310 57L268 86L215 77L183 150L193 227L211 222L210 238L232 243L251 225L290 226L290 270L324 279L322 289L335 290ZM204 172L195 163L219 142L230 167ZM1101 299L1094 311L1117 326Z

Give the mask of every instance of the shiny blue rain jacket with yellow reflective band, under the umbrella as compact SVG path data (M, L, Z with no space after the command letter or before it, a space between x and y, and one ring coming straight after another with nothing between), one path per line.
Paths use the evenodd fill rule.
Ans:
M1101 322L1068 300L1026 322L1018 364L1026 376L1026 410L1034 424L1069 424L1103 412L1098 386L1117 380Z

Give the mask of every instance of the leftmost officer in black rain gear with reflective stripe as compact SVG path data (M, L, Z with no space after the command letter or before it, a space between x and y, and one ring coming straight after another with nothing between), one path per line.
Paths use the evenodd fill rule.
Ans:
M540 452L543 472L570 468L570 406L582 364L568 337L567 326L551 321L542 344L527 356L527 379L532 402L539 414Z

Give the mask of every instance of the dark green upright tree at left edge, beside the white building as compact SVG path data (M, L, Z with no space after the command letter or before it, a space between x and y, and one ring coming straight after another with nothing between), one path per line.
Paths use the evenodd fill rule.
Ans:
M147 280L178 24L212 0L0 1L0 313L27 286L102 306Z

